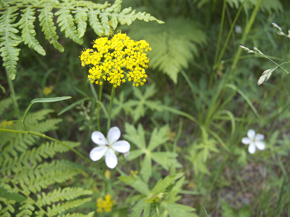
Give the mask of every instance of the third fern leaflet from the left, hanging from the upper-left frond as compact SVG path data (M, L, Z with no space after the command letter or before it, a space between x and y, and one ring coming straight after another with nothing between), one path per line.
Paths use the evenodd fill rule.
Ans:
M52 44L55 49L58 49L59 52L64 52L64 47L61 46L57 39L59 38L55 32L56 27L53 22L53 13L52 7L48 6L43 9L38 10L40 12L38 18L40 22L40 26L42 26L41 31L44 32L45 38L49 41L50 44Z

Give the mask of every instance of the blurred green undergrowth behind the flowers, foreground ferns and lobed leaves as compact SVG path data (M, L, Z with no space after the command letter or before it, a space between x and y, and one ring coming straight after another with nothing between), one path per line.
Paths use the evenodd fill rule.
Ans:
M242 2L228 0L226 3L218 54L226 42ZM130 82L126 82L116 89L111 126L118 126L123 135L125 122L135 126L141 123L147 135L150 135L149 132L155 127L169 124L168 136L171 140L159 149L176 149L177 159L182 165L177 171L186 174L182 198L178 203L197 208L199 216L205 216L200 207L201 203L209 216L290 216L289 76L278 68L267 82L258 86L257 82L262 72L276 65L266 58L244 50L238 63L232 65L236 52L241 49L239 43L257 2L248 0L244 3L219 62L215 60L215 55L223 1L122 2L122 8L132 7L137 11L146 11L165 23L136 20L130 26L117 27L117 30L126 32L131 39L148 41L152 51L148 55L150 62L145 85L135 90ZM288 0L264 0L243 43L244 46L250 49L257 47L278 64L289 61L289 38L276 34L277 29L271 24L276 23L287 32L290 29L289 20ZM37 36L42 35L39 25L35 26ZM84 44L78 45L65 38L59 29L57 31L60 36L59 43L65 48L63 53L54 49L44 37L37 39L46 50L46 56L37 54L23 43L19 45L21 52L17 76L12 82L21 111L35 98L71 96L70 100L60 103L35 104L30 111L38 111L41 108L54 109L55 112L49 116L62 118L63 122L58 124L57 130L47 135L60 140L81 142L77 150L88 156L94 147L90 135L97 129L96 104L85 101L60 116L57 116L57 113L84 98L84 95L93 97L87 81L88 67L81 67L79 56L84 48L92 48L91 43L97 36L93 29L88 27L83 37ZM6 99L11 92L8 76L2 63L0 65L0 82L6 89L6 93L1 92L0 97ZM290 70L289 64L283 66L287 71ZM231 70L233 72L229 76ZM188 81L191 81L192 86ZM224 83L232 84L231 87L238 88L245 96L235 91L235 88L220 88ZM94 86L98 90L99 86ZM110 85L104 84L102 102L107 107L110 91ZM257 116L245 98L259 110ZM201 124L163 111L160 108L161 104L186 112ZM2 112L1 121L17 117L16 113L11 112L12 107ZM266 149L258 150L254 155L250 155L247 146L241 143L242 137L246 136L250 128L265 135ZM106 119L101 112L101 131L105 129ZM229 150L225 150L209 130L215 132ZM131 147L134 149L133 145ZM59 154L57 157L82 164L81 159L73 153ZM128 165L123 165L123 169L127 173L130 170L139 170L140 162L130 161ZM103 166L102 170L105 172L106 167ZM154 186L160 177L167 174L168 171L153 163L153 177L149 185ZM110 174L111 179L115 180L114 177L118 175L116 170ZM98 181L92 177L85 177L85 182L82 179L84 178L79 176L70 184L82 183L85 188L91 189L92 186L96 186L93 182ZM104 186L96 187L99 192L94 195L95 198L105 191ZM116 216L126 216L130 201L124 202L126 198L122 198L122 195L125 195L122 190L112 193L113 197L118 195L117 205L124 205L123 208L115 206L113 213L100 216L113 216L114 213ZM93 207L96 202L91 203Z

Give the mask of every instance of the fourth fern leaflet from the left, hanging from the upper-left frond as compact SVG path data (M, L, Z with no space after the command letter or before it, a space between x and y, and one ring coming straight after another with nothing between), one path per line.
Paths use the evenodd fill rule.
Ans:
M73 15L70 14L70 10L60 9L55 15L59 15L56 22L59 23L58 26L61 27L60 31L65 32L66 38L70 38L80 45L83 44L84 40L80 38L77 33L77 27L75 27Z

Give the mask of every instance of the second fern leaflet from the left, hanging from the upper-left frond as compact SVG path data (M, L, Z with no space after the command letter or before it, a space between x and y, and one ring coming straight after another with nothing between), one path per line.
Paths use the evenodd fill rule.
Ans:
M45 50L34 37L36 35L34 30L35 26L33 25L33 22L36 19L34 16L35 8L29 6L28 8L21 10L21 12L23 12L23 14L21 14L22 17L19 20L19 29L22 29L21 38L24 41L24 44L28 44L28 47L32 47L36 52L45 56Z

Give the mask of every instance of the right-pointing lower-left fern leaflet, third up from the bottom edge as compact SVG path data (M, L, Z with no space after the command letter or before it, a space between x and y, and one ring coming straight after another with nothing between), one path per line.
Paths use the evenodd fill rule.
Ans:
M91 190L84 190L81 187L66 187L61 190L59 187L58 189L49 192L47 195L42 192L42 196L40 194L37 195L37 205L44 206L50 205L51 203L55 203L57 201L70 201L82 195L91 195L93 191Z

